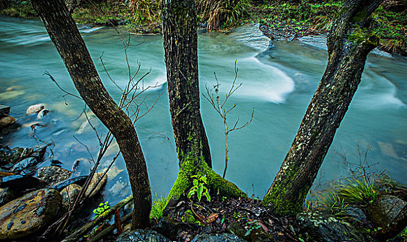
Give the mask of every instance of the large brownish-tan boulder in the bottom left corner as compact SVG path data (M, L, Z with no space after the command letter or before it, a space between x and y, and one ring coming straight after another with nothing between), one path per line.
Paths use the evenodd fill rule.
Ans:
M40 189L0 207L0 239L17 239L47 227L61 206L55 189Z

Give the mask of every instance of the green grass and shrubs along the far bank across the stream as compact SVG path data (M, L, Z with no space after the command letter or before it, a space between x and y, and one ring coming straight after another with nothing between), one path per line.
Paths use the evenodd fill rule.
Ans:
M295 39L327 32L343 1L197 0L200 26L210 31L258 22L271 31L269 37ZM373 14L379 48L407 55L406 1L385 1ZM1 1L0 14L35 17L28 1ZM125 25L130 32L161 33L161 1L82 1L73 9L78 24Z

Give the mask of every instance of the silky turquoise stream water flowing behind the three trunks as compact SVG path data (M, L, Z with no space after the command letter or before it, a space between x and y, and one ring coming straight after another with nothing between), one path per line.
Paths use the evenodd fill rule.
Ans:
M118 86L129 79L123 43L113 28L86 28L80 32L94 58L105 86L115 100L120 90L105 73L102 56L109 75ZM127 38L127 35L125 35ZM150 108L165 91L165 64L161 35L130 35L127 56L132 73L138 63L144 87L154 86L141 95L141 113ZM201 93L215 84L216 72L223 97L234 78L233 65L239 68L237 83L242 86L230 97L229 105L237 104L228 115L229 126L237 118L239 124L250 119L248 127L230 133L229 165L226 178L248 193L262 198L277 173L302 120L309 101L325 71L327 52L323 39L302 39L300 43L279 41L267 50L268 40L256 26L244 26L229 34L199 33L199 75ZM362 82L341 127L336 132L316 184L347 174L351 163L359 163L359 151L370 147L368 161L372 169L387 169L400 183L407 183L407 62L405 57L370 54ZM62 167L78 165L75 176L89 173L91 162L98 153L98 139L87 124L84 103L64 93L48 72L66 91L77 93L46 30L38 19L0 17L0 103L11 106L10 115L21 127L1 138L1 145L25 147L37 144L35 137L55 142L53 159ZM51 113L37 120L27 116L28 106L45 103ZM203 122L213 157L213 167L219 174L224 169L224 131L219 115L201 97ZM88 111L91 123L99 136L105 127ZM30 125L39 123L35 133ZM147 160L152 191L168 194L178 172L176 147L171 127L168 94L165 92L154 109L136 122L141 146ZM87 146L80 145L80 142ZM112 145L102 160L100 169L107 167L116 154ZM347 162L343 160L346 158ZM363 159L363 157L362 157ZM80 162L75 162L80 160ZM46 160L42 166L50 165ZM128 177L122 158L116 160L109 172L105 201L116 203L130 193Z

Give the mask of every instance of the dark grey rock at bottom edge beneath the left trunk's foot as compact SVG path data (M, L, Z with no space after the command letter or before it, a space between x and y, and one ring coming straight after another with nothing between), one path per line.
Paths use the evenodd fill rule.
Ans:
M138 241L149 241L149 242L170 242L169 239L165 238L162 234L159 234L155 230L132 230L130 232L125 232L121 234L116 242L138 242Z

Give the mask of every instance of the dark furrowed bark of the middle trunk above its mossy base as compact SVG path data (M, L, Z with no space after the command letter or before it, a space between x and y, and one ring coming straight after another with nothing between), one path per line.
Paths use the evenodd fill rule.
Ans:
M199 106L195 1L164 0L162 6L168 95L179 160L192 152L212 167Z

